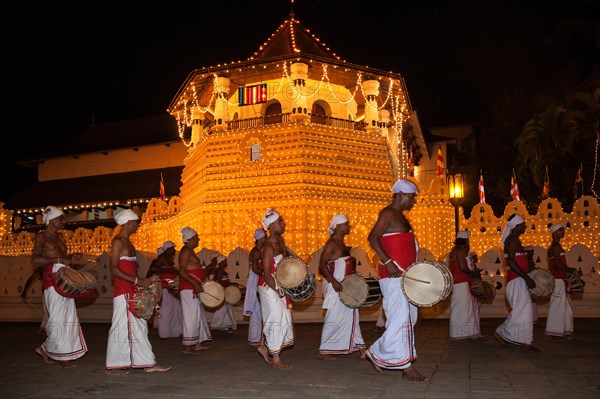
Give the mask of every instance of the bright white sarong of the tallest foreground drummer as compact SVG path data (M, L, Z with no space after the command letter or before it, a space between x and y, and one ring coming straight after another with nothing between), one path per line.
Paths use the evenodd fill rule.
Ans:
M418 309L402 292L402 278L379 280L383 295L386 330L367 350L367 356L379 367L406 369L417 358L414 325Z

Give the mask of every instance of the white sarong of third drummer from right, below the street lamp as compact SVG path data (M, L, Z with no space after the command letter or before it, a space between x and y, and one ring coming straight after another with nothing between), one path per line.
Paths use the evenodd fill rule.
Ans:
M450 298L450 338L466 339L478 337L479 301L473 295L468 282L454 284Z

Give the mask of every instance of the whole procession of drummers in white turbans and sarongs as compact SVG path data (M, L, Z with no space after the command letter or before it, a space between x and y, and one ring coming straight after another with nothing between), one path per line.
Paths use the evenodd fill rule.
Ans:
M489 303L497 287L482 281L477 256L470 252L468 231L457 233L447 263L418 262L419 232L413 231L406 215L415 204L417 187L409 179L400 179L391 192L391 202L379 212L368 235L380 259L377 278L356 272L356 261L344 242L351 233L346 215L340 213L331 219L329 239L319 260L326 312L316 357L334 361L338 355L358 352L377 372L399 370L408 381L424 382L428 377L414 366L418 308L451 296L450 339L480 339L486 336L480 330L480 304ZM201 261L195 251L200 239L191 227L181 230L183 246L178 251L173 241L166 241L157 249L147 274L138 275L130 237L137 231L139 218L125 209L115 220L118 226L110 248L113 313L106 374L171 369L159 365L154 356L148 338L149 321L161 338L181 339L183 354L201 356L211 348L208 343L214 331L237 332L233 306L242 303L243 315L249 321L248 343L270 367L292 368L281 358L284 348L294 344L291 309L294 302L314 293L316 283L308 266L286 245L284 215L268 209L262 226L254 232L246 286L230 281L223 255L215 253L207 263ZM59 234L65 221L59 208L47 207L46 229L35 237L32 263L36 272L32 277L43 281L46 317L42 326L47 335L35 352L45 363L72 368L87 352L75 298L93 295L95 280L93 272L86 271L81 254L67 253ZM525 231L523 215L507 220L501 241L507 268L506 299L511 310L491 334L499 344L537 351L533 326L537 321L535 299L540 297L550 297L545 328L548 339L573 339L570 297L574 288L582 285L576 270L567 265L560 244L565 230L564 225L549 226L549 270L541 270L535 268L530 248L520 240ZM384 321L378 325L383 333L367 345L359 309L380 301L380 320Z

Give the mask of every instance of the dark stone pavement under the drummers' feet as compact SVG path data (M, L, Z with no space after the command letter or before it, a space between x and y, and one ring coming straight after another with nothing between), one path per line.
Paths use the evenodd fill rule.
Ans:
M502 319L483 319L490 333ZM600 321L576 319L577 339L546 341L545 319L535 328L541 350L522 353L492 338L454 342L447 319L421 319L416 327L415 367L430 378L416 384L401 372L374 371L358 353L317 359L321 324L295 325L296 343L282 359L292 370L270 368L246 342L247 324L236 334L216 332L212 349L181 353L179 339L150 341L166 373L141 370L104 375L108 324L83 324L89 352L77 368L44 364L34 353L44 337L37 323L0 323L0 398L600 398ZM368 344L378 337L374 322L361 323Z

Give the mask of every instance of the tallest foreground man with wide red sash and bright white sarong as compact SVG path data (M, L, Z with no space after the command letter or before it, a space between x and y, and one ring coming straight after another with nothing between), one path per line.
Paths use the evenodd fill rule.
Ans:
M414 325L418 309L402 292L402 273L417 260L417 241L404 211L415 204L417 187L400 179L392 187L392 202L383 208L369 233L369 244L379 258L379 285L387 317L385 332L366 352L375 369L402 370L402 377L412 382L427 381L412 362L417 358Z

